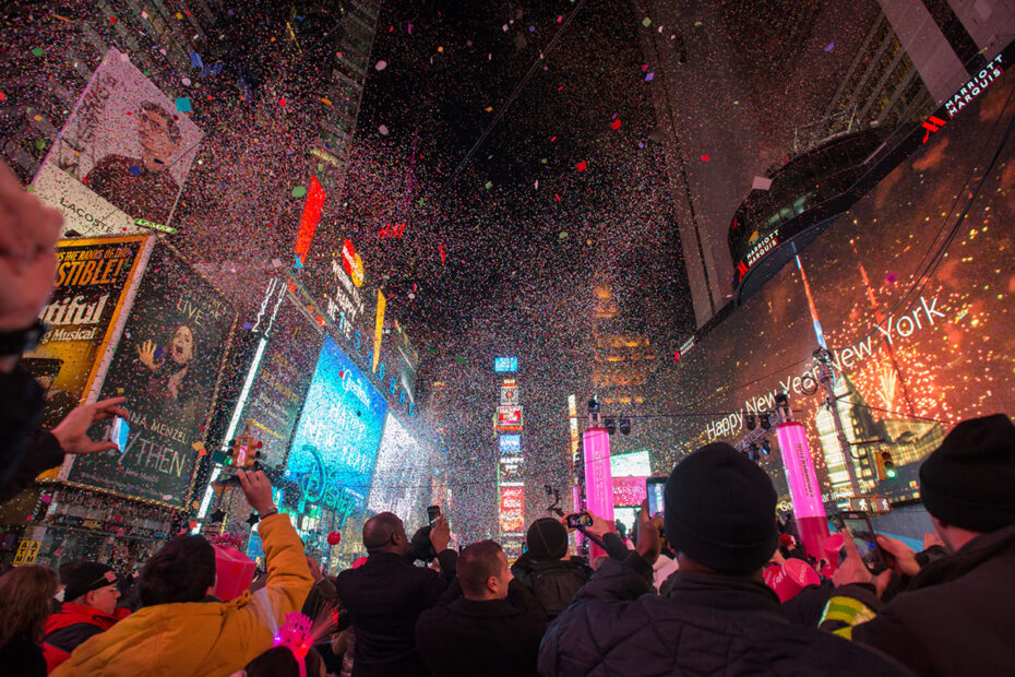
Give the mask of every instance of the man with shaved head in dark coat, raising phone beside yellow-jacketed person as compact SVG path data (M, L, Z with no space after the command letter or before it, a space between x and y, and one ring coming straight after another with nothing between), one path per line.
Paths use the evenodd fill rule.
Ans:
M366 563L335 579L356 632L353 677L429 675L416 648L416 620L440 601L457 565L457 554L447 548L451 528L443 516L429 538L441 573L415 566L415 550L396 514L381 512L363 524Z

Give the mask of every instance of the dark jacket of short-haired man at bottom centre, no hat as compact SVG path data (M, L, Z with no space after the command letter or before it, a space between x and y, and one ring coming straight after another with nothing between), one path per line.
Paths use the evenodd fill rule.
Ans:
M514 579L504 599L459 596L423 611L416 622L416 645L433 677L535 677L545 630L542 607Z

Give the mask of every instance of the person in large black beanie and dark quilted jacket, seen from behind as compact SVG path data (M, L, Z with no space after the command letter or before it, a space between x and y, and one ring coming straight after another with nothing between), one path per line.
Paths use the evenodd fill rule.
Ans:
M549 627L539 674L903 675L862 646L789 622L762 572L778 545L768 475L726 443L681 461L666 480L662 519L680 571L666 597L652 566L659 528L648 501L637 548L606 561Z

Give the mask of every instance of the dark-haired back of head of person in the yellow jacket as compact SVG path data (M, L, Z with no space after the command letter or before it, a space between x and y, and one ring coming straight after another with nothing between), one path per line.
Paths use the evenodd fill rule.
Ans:
M184 534L164 545L141 570L142 606L200 602L215 586L215 548L203 536Z

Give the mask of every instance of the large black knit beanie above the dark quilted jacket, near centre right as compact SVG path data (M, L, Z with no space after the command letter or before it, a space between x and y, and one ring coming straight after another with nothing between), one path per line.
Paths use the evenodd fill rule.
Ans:
M725 442L702 447L666 482L666 539L719 573L761 569L779 544L768 475Z

